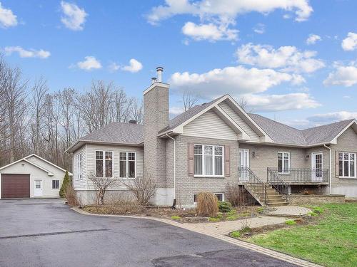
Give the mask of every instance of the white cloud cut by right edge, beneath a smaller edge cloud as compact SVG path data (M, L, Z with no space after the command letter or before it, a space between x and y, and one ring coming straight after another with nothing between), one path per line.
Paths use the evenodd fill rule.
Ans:
M328 74L323 85L343 85L350 87L357 84L357 66L335 66L335 70Z

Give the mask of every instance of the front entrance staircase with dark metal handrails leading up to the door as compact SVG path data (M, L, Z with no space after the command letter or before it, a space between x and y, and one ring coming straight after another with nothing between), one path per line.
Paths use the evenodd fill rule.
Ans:
M288 204L288 195L284 194L285 190L281 190L280 184L262 182L248 167L240 169L240 175L246 178L244 183L246 190L262 206L285 206Z

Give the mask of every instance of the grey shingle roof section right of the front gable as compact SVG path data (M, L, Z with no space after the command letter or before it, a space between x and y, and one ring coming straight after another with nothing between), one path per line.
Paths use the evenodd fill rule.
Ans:
M249 114L249 116L274 142L286 145L317 145L331 142L338 133L353 121L353 119L343 120L306 130L298 130L258 114Z

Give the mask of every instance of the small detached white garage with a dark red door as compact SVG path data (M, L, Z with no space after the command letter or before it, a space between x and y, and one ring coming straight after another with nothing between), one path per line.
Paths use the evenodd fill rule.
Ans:
M59 197L65 173L35 154L19 159L0 168L0 199Z

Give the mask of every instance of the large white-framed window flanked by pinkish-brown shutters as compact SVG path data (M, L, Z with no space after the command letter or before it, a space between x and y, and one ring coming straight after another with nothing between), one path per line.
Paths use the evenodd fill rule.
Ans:
M194 174L197 176L223 176L223 147L194 145Z

